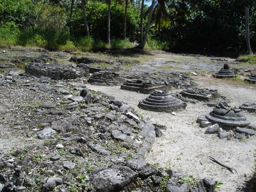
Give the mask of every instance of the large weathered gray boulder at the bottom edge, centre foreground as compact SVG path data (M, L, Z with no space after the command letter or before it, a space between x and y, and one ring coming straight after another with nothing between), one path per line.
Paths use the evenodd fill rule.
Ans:
M90 181L98 192L120 191L130 184L138 174L131 168L118 166L114 168L102 167L90 173Z

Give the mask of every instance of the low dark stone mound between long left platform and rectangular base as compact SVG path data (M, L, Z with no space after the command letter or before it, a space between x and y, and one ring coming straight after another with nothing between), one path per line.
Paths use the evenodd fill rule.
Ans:
M116 86L122 82L122 78L115 72L99 71L94 73L88 82L96 86Z

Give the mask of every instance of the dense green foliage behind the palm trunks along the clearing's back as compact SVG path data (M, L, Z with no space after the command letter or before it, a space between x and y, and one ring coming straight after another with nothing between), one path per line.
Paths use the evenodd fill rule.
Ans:
M117 2L122 2L118 4ZM86 36L80 1L75 1L71 33L71 0L0 0L0 45L39 46L48 49L106 48L108 6L87 1L91 36ZM247 0L159 0L155 3L147 48L177 52L241 54L246 52L245 7L250 8L250 42L256 45L256 11ZM145 6L144 27L148 11ZM112 1L111 42L114 48L133 44L123 36L124 1ZM140 6L129 5L126 36L139 41Z

